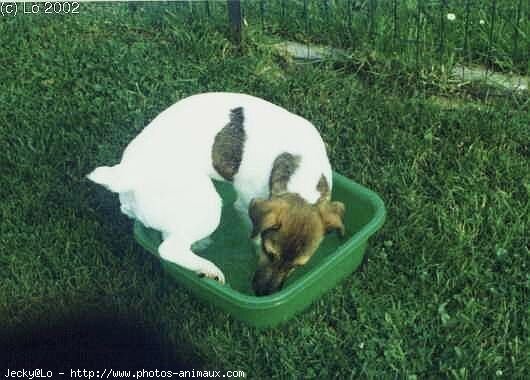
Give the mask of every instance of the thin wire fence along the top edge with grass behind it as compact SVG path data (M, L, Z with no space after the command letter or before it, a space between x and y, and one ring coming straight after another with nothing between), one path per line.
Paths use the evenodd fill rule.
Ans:
M154 17L228 23L227 1L135 2ZM527 90L530 2L523 0L241 1L243 29L285 41L365 52L417 72L483 78ZM504 74L499 76L500 74Z

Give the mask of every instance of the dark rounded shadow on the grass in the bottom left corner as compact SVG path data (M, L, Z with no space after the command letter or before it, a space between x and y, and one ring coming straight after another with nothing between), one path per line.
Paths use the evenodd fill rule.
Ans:
M204 367L189 342L172 344L134 315L77 312L0 335L0 368L70 370L191 370Z

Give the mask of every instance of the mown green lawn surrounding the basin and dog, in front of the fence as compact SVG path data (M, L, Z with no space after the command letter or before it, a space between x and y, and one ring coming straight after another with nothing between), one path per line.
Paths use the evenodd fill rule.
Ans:
M460 102L438 102L456 95L332 62L296 65L259 31L240 54L214 23L118 6L48 16L0 22L0 326L9 368L68 370L54 355L76 357L78 345L83 368L111 339L118 353L147 349L123 362L102 355L99 369L178 358L249 378L529 377L527 98L457 93ZM117 162L161 110L213 90L258 95L313 121L334 168L387 206L362 269L277 329L248 328L177 287L134 242L117 199L84 179ZM91 318L107 327L72 328ZM55 346L57 330L66 335ZM88 339L85 330L92 345L70 333ZM152 349L157 342L165 348Z

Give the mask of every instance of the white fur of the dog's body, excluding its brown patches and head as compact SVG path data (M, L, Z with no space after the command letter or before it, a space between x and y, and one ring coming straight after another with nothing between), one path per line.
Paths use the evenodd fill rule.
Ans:
M213 167L211 151L215 135L237 107L243 107L246 133L233 180L237 209L246 214L253 198L268 198L273 162L284 152L301 157L288 191L315 203L322 174L331 189L331 167L315 127L265 100L235 93L199 94L175 103L131 141L118 165L88 175L119 193L124 214L162 232L159 253L164 259L221 282L219 268L190 247L219 224L222 202L210 178L222 178Z

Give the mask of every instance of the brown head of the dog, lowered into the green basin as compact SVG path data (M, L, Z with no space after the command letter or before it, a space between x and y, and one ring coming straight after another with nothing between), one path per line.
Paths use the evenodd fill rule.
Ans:
M258 269L252 280L259 296L280 290L289 274L309 261L327 232L344 235L344 204L328 197L316 204L294 193L254 199L249 215L251 237L259 243Z

